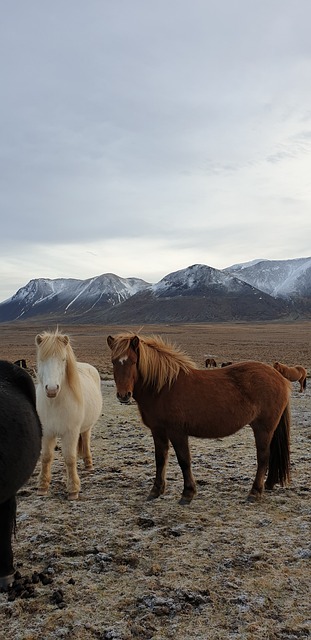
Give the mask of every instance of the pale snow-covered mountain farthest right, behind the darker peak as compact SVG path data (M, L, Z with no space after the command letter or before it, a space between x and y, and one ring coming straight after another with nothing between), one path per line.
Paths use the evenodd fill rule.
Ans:
M311 297L311 258L252 260L224 271L274 298Z

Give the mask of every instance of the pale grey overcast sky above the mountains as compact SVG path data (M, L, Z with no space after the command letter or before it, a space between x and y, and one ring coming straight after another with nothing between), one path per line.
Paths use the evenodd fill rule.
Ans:
M311 255L310 0L1 4L0 301Z

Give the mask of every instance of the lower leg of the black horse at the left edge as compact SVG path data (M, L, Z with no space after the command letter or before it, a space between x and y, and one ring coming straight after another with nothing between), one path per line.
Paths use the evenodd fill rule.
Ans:
M0 587L6 589L14 577L12 535L15 528L15 496L0 504Z

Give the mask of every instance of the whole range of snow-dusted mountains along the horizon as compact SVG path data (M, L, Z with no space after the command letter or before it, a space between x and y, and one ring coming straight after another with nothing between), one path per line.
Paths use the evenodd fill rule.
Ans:
M0 323L161 324L311 318L311 258L195 264L156 284L106 273L30 280L0 303Z

